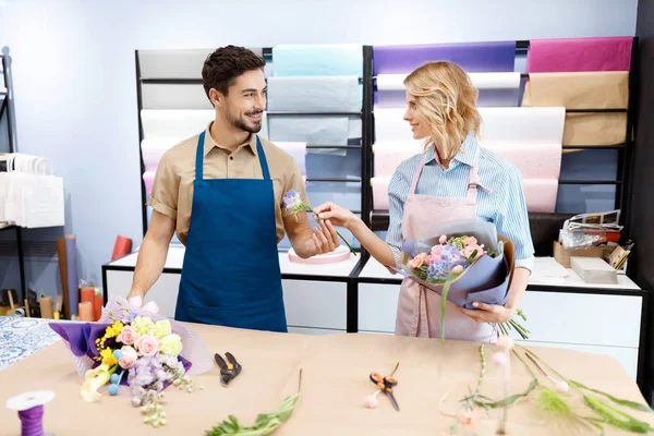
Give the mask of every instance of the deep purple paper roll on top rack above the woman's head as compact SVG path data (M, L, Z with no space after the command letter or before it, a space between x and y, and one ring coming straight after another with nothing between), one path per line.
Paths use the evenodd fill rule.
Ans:
M373 48L374 74L410 73L431 61L450 61L468 72L514 70L516 41Z

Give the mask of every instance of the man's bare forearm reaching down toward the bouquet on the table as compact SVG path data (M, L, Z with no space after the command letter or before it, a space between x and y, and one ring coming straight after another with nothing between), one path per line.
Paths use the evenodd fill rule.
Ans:
M143 245L138 251L130 298L145 296L159 279L159 276L161 276L167 256L168 243L166 241L158 241L155 238L148 238L148 235L145 237Z

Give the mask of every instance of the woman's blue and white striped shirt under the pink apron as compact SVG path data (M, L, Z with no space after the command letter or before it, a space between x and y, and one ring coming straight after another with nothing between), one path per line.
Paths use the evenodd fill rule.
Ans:
M470 170L479 144L472 134L468 135L461 150L445 169L438 164L434 147L425 153L427 159L422 170L415 193L438 197L464 197L468 195ZM388 185L389 225L386 242L391 246L396 262L400 259L402 246L402 214L404 202L411 189L411 181L423 158L415 155L400 164ZM522 173L511 162L487 148L481 147L477 173L482 186L477 190L476 215L485 221L494 222L497 232L516 244L516 267L534 266L534 246L529 228L526 202L522 191Z

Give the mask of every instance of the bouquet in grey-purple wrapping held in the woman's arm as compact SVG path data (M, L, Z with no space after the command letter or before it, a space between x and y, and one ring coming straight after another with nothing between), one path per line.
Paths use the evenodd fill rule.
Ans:
M441 331L445 303L474 308L473 302L505 304L514 261L513 243L497 234L492 222L481 219L449 221L434 229L437 237L405 240L402 262L392 269L441 295ZM519 315L524 315L519 311ZM526 330L511 320L509 326L526 338ZM500 326L506 331L506 326Z

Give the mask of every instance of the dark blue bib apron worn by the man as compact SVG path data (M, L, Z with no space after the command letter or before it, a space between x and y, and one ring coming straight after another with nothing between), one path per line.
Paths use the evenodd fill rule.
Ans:
M197 140L193 206L174 318L287 331L277 251L275 192L264 179L204 179L205 132Z

